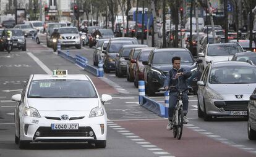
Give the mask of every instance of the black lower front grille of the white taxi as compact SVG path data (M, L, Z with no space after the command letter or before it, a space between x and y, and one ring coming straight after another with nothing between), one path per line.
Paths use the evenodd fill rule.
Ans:
M36 131L40 132L40 136L35 137L90 137L89 132L93 131L92 127L79 127L78 130L52 130L51 127L38 127ZM93 132L95 137L95 132Z

